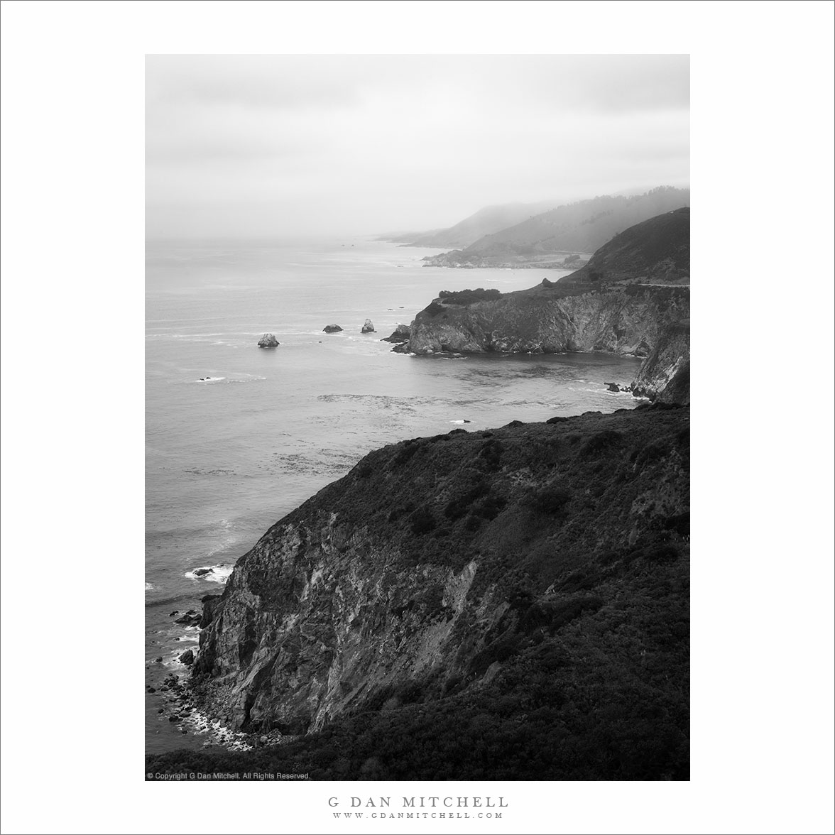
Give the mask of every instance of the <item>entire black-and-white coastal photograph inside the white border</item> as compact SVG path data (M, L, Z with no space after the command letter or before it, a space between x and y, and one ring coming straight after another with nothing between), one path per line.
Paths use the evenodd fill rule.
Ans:
M688 779L688 56L146 66L148 772Z

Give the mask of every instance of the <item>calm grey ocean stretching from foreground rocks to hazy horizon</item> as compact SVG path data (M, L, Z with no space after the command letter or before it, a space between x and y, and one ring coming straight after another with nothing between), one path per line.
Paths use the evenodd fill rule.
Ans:
M392 353L382 337L438 291L522 290L566 274L422 265L436 254L364 239L148 242L148 753L240 744L196 713L170 721L164 680L185 681L178 659L196 651L199 633L175 620L199 612L271 524L365 453L454 428L637 405L604 385L629 383L640 365L632 358ZM376 333L360 332L367 318ZM344 331L323 333L329 324ZM266 332L281 345L257 347Z

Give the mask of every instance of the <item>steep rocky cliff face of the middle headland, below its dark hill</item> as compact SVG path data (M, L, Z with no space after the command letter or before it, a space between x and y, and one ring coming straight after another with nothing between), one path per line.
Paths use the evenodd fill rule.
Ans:
M530 290L467 306L436 299L412 322L409 351L609 351L645 357L666 326L688 316L687 287L624 285L572 293L545 279Z

